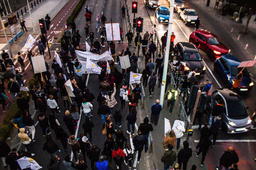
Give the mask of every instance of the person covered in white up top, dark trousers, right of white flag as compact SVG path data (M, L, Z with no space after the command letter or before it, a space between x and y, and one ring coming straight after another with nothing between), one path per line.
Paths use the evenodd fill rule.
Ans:
M175 133L177 139L177 150L180 148L180 139L184 135L185 132L185 123L181 120L175 120L172 127L173 132Z

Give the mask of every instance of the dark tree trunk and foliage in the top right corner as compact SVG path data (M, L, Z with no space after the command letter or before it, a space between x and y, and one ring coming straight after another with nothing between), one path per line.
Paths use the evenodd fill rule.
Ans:
M243 34L246 34L246 31L248 29L249 22L252 18L252 15L256 13L256 1L255 0L235 0L236 4L239 4L240 6L243 6L248 10L248 18L246 20L245 27L242 31Z

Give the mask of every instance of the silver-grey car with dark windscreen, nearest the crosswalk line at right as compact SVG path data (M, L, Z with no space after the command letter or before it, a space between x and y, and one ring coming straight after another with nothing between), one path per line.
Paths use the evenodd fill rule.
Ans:
M250 130L252 120L244 102L236 92L228 89L217 89L212 93L210 108L212 114L221 116L221 129L228 134Z

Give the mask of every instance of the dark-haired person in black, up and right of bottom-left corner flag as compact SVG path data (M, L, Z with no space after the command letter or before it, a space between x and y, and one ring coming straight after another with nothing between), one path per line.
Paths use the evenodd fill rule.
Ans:
M51 135L47 135L43 150L46 150L48 153L50 153L51 157L55 157L57 152L60 152L60 147L52 140Z

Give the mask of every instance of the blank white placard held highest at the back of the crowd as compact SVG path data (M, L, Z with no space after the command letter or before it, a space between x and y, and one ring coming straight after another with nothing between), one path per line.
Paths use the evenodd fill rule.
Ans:
M121 37L120 37L120 27L119 27L119 23L113 23L112 27L113 27L113 36L112 36L112 27L111 24L105 24L106 26L106 34L107 34L107 41L120 41Z

